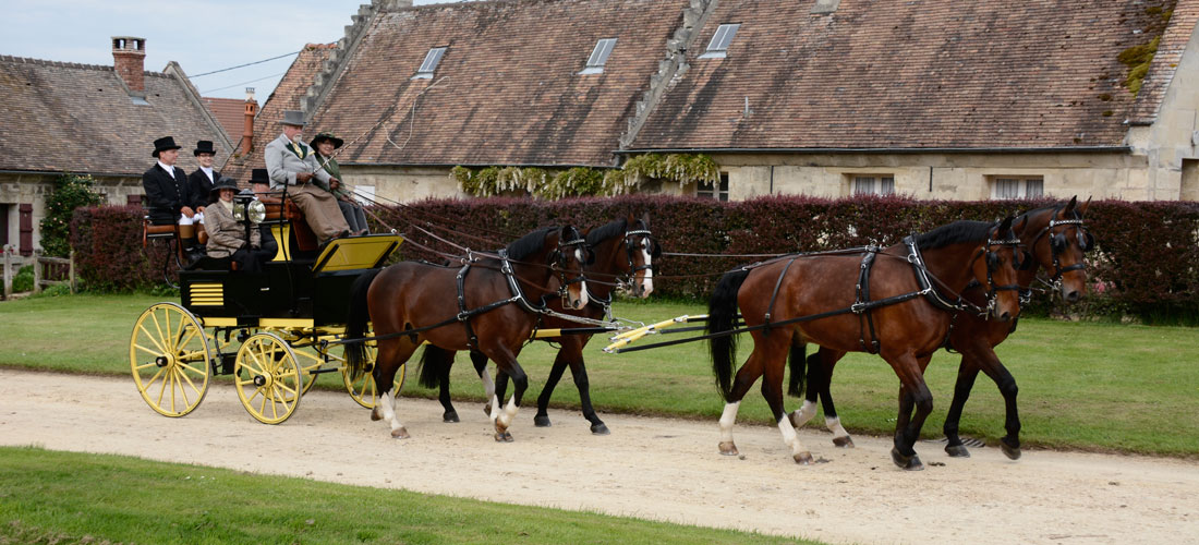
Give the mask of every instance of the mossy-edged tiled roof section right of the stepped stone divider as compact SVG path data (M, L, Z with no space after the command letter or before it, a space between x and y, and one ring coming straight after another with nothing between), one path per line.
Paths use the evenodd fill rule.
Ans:
M812 1L721 1L629 147L1120 146L1134 97L1117 56L1149 42L1163 4L840 0L818 16ZM1170 44L1194 26L1193 0L1179 4L1189 22ZM728 56L697 59L722 23L741 24Z

